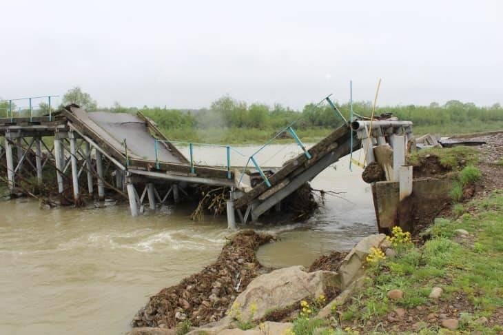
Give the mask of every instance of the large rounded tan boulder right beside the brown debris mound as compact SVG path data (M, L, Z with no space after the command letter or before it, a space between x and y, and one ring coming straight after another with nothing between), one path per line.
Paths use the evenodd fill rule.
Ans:
M239 316L241 321L258 321L268 311L283 309L333 290L340 290L336 272L306 272L302 266L285 267L251 281L227 312Z

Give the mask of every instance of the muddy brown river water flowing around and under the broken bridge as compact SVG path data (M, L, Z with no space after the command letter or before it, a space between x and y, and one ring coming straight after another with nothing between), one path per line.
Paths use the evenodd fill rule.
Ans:
M254 146L238 150L249 155ZM182 150L185 150L182 148ZM280 166L296 145L271 145L257 158ZM223 163L225 148L194 156ZM358 157L358 153L356 153ZM244 165L232 154L233 165ZM280 241L258 250L264 265L309 265L331 250L347 250L376 232L369 185L345 157L314 179L326 196L305 223L254 225ZM225 242L225 217L193 222L194 207L164 206L132 218L126 203L88 209L41 210L36 201L0 201L0 334L123 334L148 296L212 263Z

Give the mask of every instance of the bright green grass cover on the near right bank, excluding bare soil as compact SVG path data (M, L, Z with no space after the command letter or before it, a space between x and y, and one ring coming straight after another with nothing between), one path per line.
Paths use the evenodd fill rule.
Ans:
M342 319L375 325L396 307L410 309L428 306L431 287L444 289L440 301L451 303L464 294L475 312L462 314L460 329L466 332L497 334L501 325L478 325L475 319L490 317L503 306L503 192L495 191L486 199L471 201L466 207L476 208L476 214L463 214L460 220L437 219L426 232L429 241L422 247L411 246L398 256L386 259L369 269L369 278L347 303ZM464 208L463 208L464 211ZM475 241L460 241L455 230L464 229L475 235ZM387 299L388 290L404 291L402 301ZM424 307L423 307L424 308ZM466 312L466 311L460 311ZM424 334L436 334L436 325L424 329ZM429 333L431 331L431 333Z

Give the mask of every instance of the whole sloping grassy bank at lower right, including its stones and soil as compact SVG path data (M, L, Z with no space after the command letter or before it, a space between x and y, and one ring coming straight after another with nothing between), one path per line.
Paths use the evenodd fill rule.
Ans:
M398 232L394 253L367 258L365 280L330 321L300 316L291 333L502 334L503 190L457 212L436 219L424 245Z

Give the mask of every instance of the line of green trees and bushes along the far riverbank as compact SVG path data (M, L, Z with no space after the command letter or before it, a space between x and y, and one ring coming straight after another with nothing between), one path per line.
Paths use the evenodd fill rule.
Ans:
M69 103L81 105L85 110L105 110L110 112L135 113L138 110L153 119L163 130L186 129L205 130L208 128L280 130L280 128L296 121L296 129L335 128L342 123L342 119L327 103L308 103L302 110L294 110L278 103L267 105L264 103L251 103L239 101L225 95L214 101L209 108L199 110L170 109L161 107L127 108L120 103L112 107L98 108L90 94L82 92L80 88L72 88L62 99L61 106ZM346 119L349 119L349 103L335 103L336 107ZM0 108L6 110L7 101L0 103ZM47 112L48 106L39 106L42 112ZM370 116L372 104L368 101L353 103L353 110L360 115ZM396 105L378 106L376 115L391 112L402 120L412 121L414 127L428 130L450 129L457 125L460 130L468 130L478 125L478 128L488 125L489 128L503 128L503 108L500 103L491 106L477 106L474 103L462 103L451 100L440 105ZM2 109L0 109L2 113ZM477 129L478 129L477 128Z

